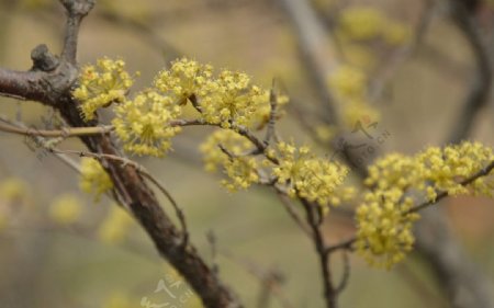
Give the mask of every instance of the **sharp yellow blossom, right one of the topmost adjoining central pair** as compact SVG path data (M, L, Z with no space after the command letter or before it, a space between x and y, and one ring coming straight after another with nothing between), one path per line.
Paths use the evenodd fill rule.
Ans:
M205 121L222 127L249 125L259 116L259 110L269 107L269 95L261 88L251 84L244 72L223 70L210 80L209 94L200 101Z

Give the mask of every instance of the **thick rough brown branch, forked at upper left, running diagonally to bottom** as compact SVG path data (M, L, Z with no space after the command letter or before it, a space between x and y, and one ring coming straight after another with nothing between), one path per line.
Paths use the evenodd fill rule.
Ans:
M59 111L72 127L97 126L98 121L86 123L78 109L78 102L70 94L70 87L77 79L77 34L82 18L89 13L92 0L63 0L68 21L64 50L55 69L36 67L36 70L18 72L0 69L0 93L23 96L52 105ZM40 53L41 60L49 54ZM50 58L50 57L49 57ZM46 61L47 62L47 61ZM87 148L94 153L120 156L111 136L80 136ZM183 244L183 232L179 231L160 207L155 194L145 183L143 175L132 166L104 158L102 166L112 179L119 201L132 209L134 217L146 230L159 254L180 272L205 307L242 307L234 294L198 254L190 243Z

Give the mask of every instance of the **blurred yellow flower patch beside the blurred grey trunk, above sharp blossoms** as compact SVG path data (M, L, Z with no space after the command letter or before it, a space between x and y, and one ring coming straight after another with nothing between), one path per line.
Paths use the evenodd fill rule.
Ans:
M379 113L370 106L367 98L367 76L363 70L352 66L338 67L328 79L343 113L345 124L352 127L363 117L372 121L379 119Z

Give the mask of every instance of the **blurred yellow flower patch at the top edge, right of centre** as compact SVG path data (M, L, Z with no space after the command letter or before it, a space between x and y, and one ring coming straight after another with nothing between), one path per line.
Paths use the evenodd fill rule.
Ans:
M338 20L338 32L343 38L368 41L382 38L390 45L398 45L409 39L409 28L389 20L385 14L371 7L345 9Z

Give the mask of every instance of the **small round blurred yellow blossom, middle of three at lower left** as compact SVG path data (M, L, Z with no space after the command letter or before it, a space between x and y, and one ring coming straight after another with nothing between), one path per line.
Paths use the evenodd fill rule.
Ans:
M72 194L58 196L49 206L49 217L59 225L70 225L77 221L82 213L82 204Z

